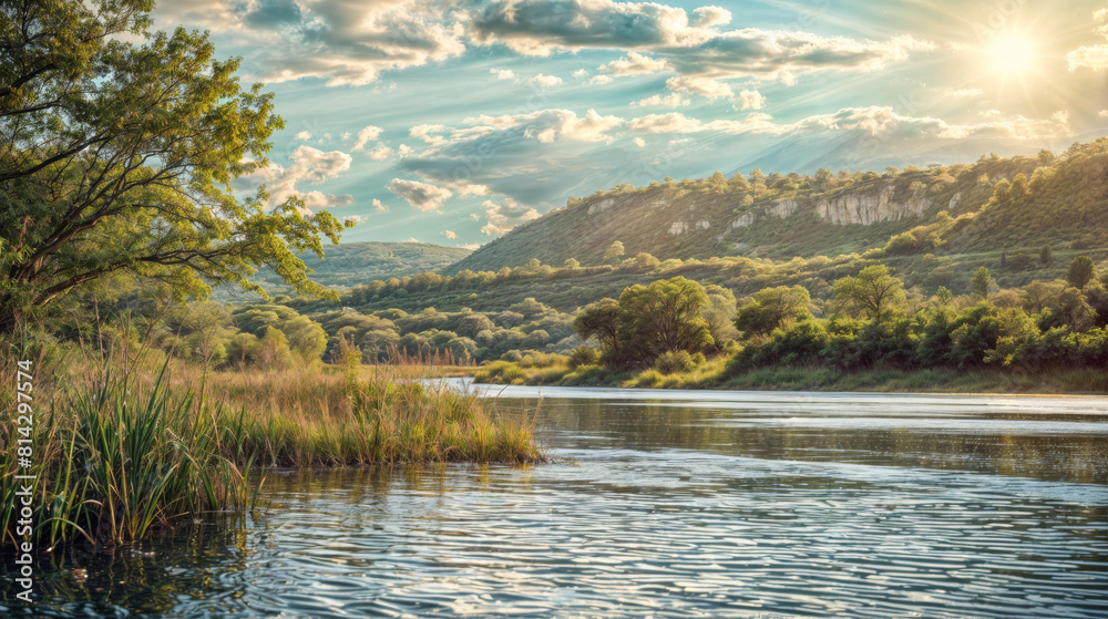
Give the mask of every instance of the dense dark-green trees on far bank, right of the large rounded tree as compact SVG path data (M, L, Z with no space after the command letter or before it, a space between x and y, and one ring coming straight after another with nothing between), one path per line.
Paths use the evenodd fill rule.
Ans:
M1091 260L1077 258L1074 266L1067 281L996 292L982 267L972 295L942 288L911 303L888 269L868 267L834 283L835 311L823 319L811 313L804 291L767 289L739 309L736 326L745 339L729 369L1105 368L1108 291Z

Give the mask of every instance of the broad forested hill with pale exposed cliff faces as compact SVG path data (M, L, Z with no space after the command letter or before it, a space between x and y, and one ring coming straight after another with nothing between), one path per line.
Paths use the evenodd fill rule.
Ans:
M943 212L956 223L936 224L936 218L947 221L938 217ZM639 188L619 185L570 198L565 208L517 227L442 272L495 271L532 259L555 267L570 258L598 265L613 260L605 252L615 241L624 247L623 259L639 252L661 260L831 257L884 247L909 231L920 236L921 251L935 254L1037 251L1044 244L1106 247L1108 138L1058 156L986 155L924 169L730 179L716 173ZM912 244L897 249L911 251Z

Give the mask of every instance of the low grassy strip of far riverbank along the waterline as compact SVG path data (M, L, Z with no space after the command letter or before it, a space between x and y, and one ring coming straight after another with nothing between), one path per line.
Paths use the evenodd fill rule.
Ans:
M650 389L736 389L780 391L872 391L920 393L1108 393L1108 371L1092 368L1023 371L1018 369L868 370L762 368L730 373L724 359L708 360L687 372L613 371L566 363L522 367L495 361L474 374L475 382L558 386Z

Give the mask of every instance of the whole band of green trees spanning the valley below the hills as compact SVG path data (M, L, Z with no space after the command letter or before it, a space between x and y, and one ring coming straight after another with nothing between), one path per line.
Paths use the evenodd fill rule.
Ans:
M1002 288L993 271L981 267L965 280L950 278L952 287L941 286L934 295L909 288L888 266L856 256L827 260L818 270L806 268L811 265L726 258L680 262L666 270L660 262L639 256L619 267L596 269L604 275L670 277L626 286L618 298L597 301L599 296L594 293L573 311L534 297L497 300L502 309L489 311L469 307L456 311L434 307L411 312L394 307L306 311L310 306L290 307L297 303L288 298L281 300L288 305L193 301L178 306L160 305L132 292L111 302L91 293L84 301L71 300L65 306L69 317L59 314L52 322L58 339L93 343L107 353L116 347L136 349L148 342L166 354L227 369L330 362L345 344L356 348L369 363L399 359L482 363L521 361L530 354L532 360L563 358L573 367L601 363L663 373L689 371L707 359L724 358L732 373L777 365L821 364L853 371L1089 365L1104 360L1108 296L1088 257L1074 259L1068 269L1059 265L1065 279ZM745 274L748 287L763 286L737 299L728 286L697 281L701 268ZM563 274L582 270L586 269L574 265L557 269ZM526 281L554 272L531 265L496 277ZM825 279L835 272L841 277ZM425 275L411 279L431 287L432 298L442 295L441 287L466 281L464 274L453 278ZM789 277L802 283L789 283ZM783 286L768 286L782 280ZM388 286L375 282L360 293ZM584 345L586 341L593 343Z

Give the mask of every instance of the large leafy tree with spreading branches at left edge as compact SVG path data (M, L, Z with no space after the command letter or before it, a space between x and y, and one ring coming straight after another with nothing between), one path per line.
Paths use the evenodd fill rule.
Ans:
M232 194L268 165L271 94L244 89L205 33L147 33L152 4L0 0L0 330L113 272L184 298L261 292L247 278L268 266L330 296L295 251L321 255L343 226L296 196Z

